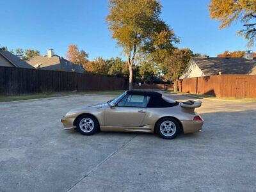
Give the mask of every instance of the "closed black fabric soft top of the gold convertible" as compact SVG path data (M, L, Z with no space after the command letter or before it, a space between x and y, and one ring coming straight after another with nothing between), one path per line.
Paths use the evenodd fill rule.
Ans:
M149 96L147 108L170 108L179 105L179 102L168 102L162 98L162 94L159 92L147 92L147 91L127 91L127 95L143 95Z

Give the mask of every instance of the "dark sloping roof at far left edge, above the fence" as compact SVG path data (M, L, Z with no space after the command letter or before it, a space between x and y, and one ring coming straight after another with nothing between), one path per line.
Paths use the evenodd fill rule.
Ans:
M17 57L14 54L12 54L12 52L0 50L0 54L4 58L6 58L6 60L10 61L10 63L12 63L12 65L14 65L15 67L34 68L31 65L29 65L26 61L23 61L19 57Z

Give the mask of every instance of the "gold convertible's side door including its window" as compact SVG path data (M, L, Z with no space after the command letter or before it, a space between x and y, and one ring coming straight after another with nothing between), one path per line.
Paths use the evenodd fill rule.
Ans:
M114 107L105 110L106 126L140 127L147 113L149 97L125 95Z

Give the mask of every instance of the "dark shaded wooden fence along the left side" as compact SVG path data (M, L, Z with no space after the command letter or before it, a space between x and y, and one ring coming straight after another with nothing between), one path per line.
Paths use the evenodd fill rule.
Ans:
M77 92L124 90L126 88L126 79L120 77L0 67L0 95L71 92L75 90Z

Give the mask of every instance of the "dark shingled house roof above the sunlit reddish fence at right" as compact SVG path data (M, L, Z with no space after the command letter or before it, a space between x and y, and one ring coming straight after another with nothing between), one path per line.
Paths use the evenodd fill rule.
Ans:
M193 58L196 65L204 72L205 76L219 74L248 74L256 75L256 58Z

